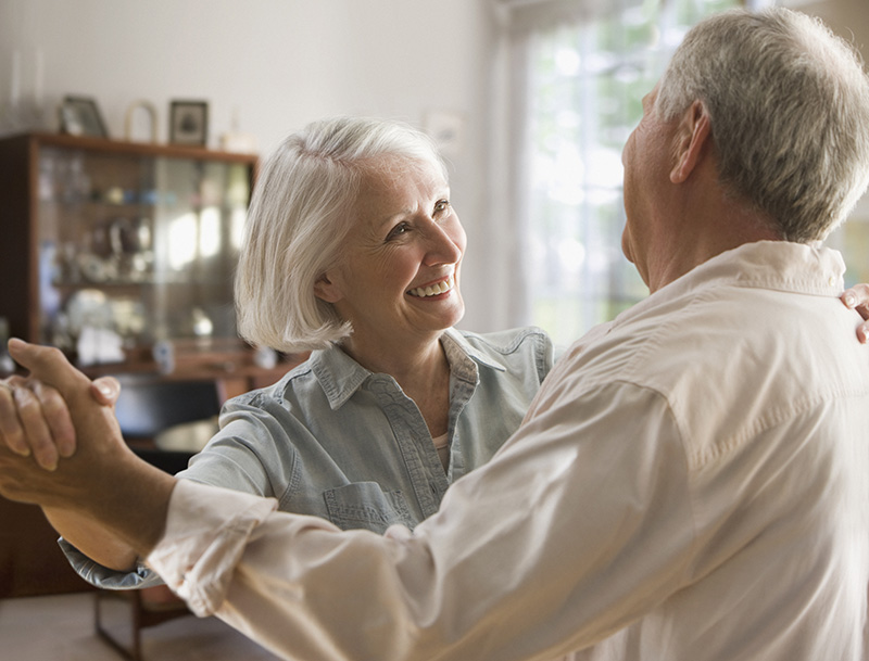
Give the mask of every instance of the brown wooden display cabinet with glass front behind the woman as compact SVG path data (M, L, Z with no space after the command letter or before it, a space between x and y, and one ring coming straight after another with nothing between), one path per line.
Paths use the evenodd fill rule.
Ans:
M235 326L256 165L255 155L190 147L1 139L0 317L10 333L61 347L90 376L215 380L226 396L277 380L293 357L264 367ZM0 598L85 587L38 508L0 506Z

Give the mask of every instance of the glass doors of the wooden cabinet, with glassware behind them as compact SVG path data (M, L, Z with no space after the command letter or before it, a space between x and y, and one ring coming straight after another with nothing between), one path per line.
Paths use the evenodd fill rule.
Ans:
M252 167L43 145L41 341L92 364L164 340L235 339Z

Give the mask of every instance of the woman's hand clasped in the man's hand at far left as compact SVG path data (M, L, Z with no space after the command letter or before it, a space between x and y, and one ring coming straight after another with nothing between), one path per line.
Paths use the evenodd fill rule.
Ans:
M103 377L90 385L91 397L114 407L118 382ZM10 377L0 381L0 443L16 455L34 456L46 470L54 470L62 457L76 449L75 428L61 394L38 379Z

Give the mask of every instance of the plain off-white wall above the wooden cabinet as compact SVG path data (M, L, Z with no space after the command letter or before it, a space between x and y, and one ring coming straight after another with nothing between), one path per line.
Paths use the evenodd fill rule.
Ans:
M93 97L116 138L139 99L158 106L160 141L171 100L206 100L212 147L238 109L261 153L328 115L424 126L430 111L458 113L466 142L451 157L453 202L470 244L463 326L481 328L489 314L474 245L487 207L493 39L488 0L0 0L0 109L13 53L29 96L39 51L48 104Z

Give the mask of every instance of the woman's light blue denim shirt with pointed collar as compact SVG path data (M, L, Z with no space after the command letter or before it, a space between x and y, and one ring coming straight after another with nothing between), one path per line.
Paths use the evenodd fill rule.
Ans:
M449 330L450 463L395 380L337 346L313 352L280 381L226 403L221 431L179 478L276 498L284 511L341 529L413 529L451 482L486 463L519 427L552 368L540 329ZM113 572L61 541L75 570L100 587L159 583L147 568Z

